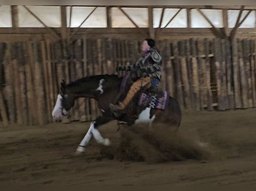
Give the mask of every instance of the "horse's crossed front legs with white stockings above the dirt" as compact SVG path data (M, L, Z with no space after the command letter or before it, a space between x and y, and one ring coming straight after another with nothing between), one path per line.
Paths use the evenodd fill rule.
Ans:
M95 119L95 121L91 123L91 126L90 126L88 132L86 133L85 137L79 144L79 146L77 148L77 153L81 153L81 152L85 151L85 147L89 143L92 135L98 143L104 144L106 146L110 145L110 140L108 138L103 138L101 136L101 134L98 130L98 127L100 125L103 125L103 124L111 121L111 120L113 120L112 117L102 117L102 116L97 117Z

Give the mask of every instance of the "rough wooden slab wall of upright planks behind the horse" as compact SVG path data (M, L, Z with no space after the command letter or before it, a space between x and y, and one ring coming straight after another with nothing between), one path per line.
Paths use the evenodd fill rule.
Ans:
M183 109L225 110L256 106L255 40L162 40L157 42L163 70L160 88ZM64 51L63 51L64 50ZM134 64L140 42L83 36L65 50L60 41L0 43L0 120L5 124L52 122L61 79L113 74ZM122 73L124 74L124 72ZM93 99L79 98L71 120L90 121L100 114Z

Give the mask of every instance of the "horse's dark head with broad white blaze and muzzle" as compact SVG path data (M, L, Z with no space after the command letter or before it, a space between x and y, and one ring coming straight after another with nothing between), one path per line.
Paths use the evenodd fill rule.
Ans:
M74 94L66 91L66 82L64 80L62 80L60 85L60 92L57 95L57 100L51 113L55 120L59 120L62 117L69 117L76 99Z

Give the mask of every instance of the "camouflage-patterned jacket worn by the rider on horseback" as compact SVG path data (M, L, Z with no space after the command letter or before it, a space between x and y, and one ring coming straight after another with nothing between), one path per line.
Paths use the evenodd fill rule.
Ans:
M161 80L162 56L156 48L150 48L149 53L134 65L126 65L118 67L118 71L137 70L138 77L151 77Z

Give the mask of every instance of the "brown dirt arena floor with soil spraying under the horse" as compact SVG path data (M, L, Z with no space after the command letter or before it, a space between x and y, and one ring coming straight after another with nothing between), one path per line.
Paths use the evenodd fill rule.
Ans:
M96 143L74 155L90 123L0 127L0 184L256 184L256 109L183 111L177 134L165 126L100 128Z

